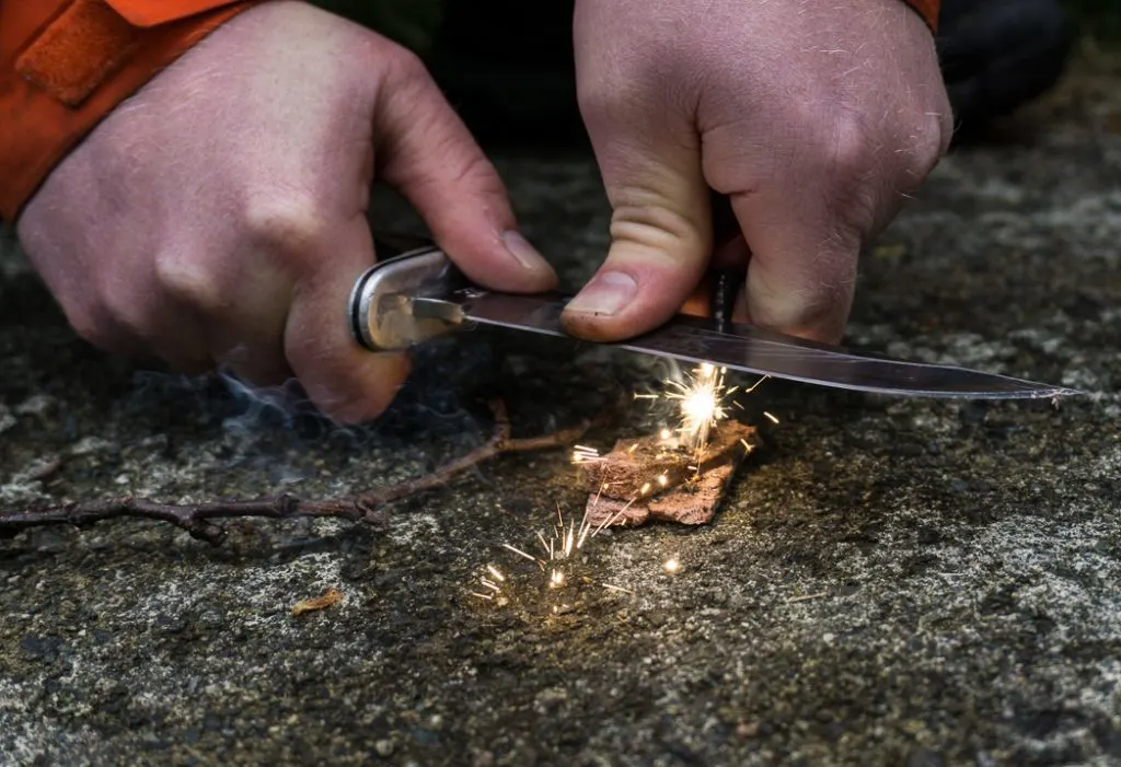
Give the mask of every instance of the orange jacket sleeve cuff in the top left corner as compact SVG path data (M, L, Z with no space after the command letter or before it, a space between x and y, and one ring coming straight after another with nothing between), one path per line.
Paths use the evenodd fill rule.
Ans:
M0 0L0 219L118 104L260 0Z

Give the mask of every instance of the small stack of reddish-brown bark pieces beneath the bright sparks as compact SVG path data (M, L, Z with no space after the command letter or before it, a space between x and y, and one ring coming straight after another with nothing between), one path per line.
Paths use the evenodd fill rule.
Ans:
M656 437L621 440L602 460L586 465L582 480L591 493L586 512L593 526L640 525L651 517L687 525L705 524L716 513L744 456L760 443L753 427L725 421L713 431L697 471L689 468L697 466L691 456L657 448L659 441ZM631 449L636 442L639 447ZM666 473L665 487L650 486L651 476L657 476L651 467ZM641 492L643 487L646 493Z

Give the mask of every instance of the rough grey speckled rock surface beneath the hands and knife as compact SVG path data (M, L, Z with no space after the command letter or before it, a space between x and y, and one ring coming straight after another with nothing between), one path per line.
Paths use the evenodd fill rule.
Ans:
M748 408L781 422L749 413L767 447L713 524L605 531L560 589L501 548L582 508L560 450L401 503L385 532L254 521L214 549L126 520L0 541L0 764L1121 763L1117 114L1064 110L944 161L863 263L849 338L1087 396L769 382ZM606 242L594 166L549 151L501 170L576 284ZM658 375L501 334L424 357L383 421L330 429L92 350L9 245L0 505L345 494L484 440L479 397L503 394L528 434ZM488 563L510 597L471 596Z

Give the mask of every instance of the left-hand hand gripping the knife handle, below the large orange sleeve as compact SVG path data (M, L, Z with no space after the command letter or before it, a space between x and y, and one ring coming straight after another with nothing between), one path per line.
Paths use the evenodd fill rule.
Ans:
M380 413L408 371L350 337L376 260L378 176L489 288L547 290L502 181L420 62L303 2L253 8L110 114L18 221L77 331L180 371L298 378L337 421Z

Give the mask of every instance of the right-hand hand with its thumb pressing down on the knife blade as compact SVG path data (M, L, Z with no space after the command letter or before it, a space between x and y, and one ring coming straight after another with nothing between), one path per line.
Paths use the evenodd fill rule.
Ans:
M649 330L710 265L740 264L741 319L839 339L861 244L951 138L919 16L900 0L577 0L574 40L613 215L566 328L593 340ZM713 240L713 190L735 213L726 243Z

